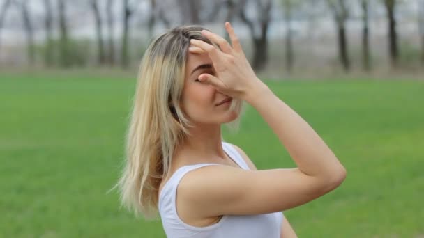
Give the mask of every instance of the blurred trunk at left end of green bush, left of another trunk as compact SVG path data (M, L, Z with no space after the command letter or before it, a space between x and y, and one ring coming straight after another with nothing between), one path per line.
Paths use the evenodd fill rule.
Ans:
M53 64L53 11L52 3L50 0L44 0L45 7L45 51L44 51L44 63L47 66Z

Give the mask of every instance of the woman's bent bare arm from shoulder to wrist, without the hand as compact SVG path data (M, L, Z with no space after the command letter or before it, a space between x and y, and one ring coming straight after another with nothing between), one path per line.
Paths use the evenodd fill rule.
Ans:
M265 84L253 87L245 100L278 135L298 167L193 170L182 178L178 193L190 210L204 217L279 212L323 196L345 180L345 168L326 143Z

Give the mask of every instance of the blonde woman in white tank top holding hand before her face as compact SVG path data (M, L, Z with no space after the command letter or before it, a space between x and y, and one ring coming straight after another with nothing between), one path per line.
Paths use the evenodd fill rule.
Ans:
M231 45L200 26L181 26L146 50L121 200L146 217L159 211L168 237L296 237L280 211L335 189L345 168L257 78L234 29L225 28ZM257 170L241 148L222 141L221 124L239 120L242 102L259 111L297 168Z

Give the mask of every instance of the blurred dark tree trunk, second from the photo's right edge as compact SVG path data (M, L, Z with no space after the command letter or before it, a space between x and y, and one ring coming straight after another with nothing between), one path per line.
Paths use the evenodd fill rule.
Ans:
M391 65L398 65L399 47L398 47L398 32L396 29L396 4L397 0L384 0L388 19L388 50L390 53Z

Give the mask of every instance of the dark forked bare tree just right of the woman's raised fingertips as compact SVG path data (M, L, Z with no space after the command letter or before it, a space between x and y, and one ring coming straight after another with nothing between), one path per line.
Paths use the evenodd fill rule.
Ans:
M252 68L255 70L263 70L268 62L268 27L271 21L271 0L255 1L257 7L258 22L249 19L247 16L246 0L240 2L241 20L248 25L250 35L253 42L253 59ZM256 27L257 26L257 27Z

